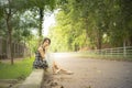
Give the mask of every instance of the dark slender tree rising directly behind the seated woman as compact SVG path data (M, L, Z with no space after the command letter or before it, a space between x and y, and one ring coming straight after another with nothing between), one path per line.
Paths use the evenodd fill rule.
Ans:
M38 22L38 45L41 44L42 41L42 24L44 20L44 12L45 11L53 11L55 8L55 0L30 0L31 4L33 6L32 8L36 8L38 15L40 15L40 22Z

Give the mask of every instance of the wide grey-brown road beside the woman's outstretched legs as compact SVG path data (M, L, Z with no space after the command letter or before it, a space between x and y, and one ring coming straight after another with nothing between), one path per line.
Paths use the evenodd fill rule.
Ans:
M73 57L66 53L53 57L74 74L48 74L43 85L51 81L53 87L44 88L132 88L132 62Z

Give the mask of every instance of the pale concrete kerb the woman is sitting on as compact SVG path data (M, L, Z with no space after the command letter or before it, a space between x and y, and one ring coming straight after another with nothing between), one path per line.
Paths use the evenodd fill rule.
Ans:
M44 69L33 69L19 88L41 88L43 78Z

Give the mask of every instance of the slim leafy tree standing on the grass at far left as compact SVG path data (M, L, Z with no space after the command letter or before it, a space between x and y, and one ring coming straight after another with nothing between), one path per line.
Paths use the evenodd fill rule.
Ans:
M25 1L23 0L4 0L0 4L1 7L1 16L6 21L6 32L7 32L7 37L8 37L8 58L11 59L11 64L13 64L13 57L11 53L11 43L12 43L12 31L13 31L13 16L16 14L16 12L22 11L25 9Z

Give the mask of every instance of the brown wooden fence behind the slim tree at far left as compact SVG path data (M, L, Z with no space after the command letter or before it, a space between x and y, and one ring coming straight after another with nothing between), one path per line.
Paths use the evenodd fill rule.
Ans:
M7 52L8 44L7 43L8 42L6 38L0 37L0 59L7 58L8 56L8 52ZM14 58L29 56L31 54L30 50L25 46L24 43L12 42L11 46L12 46L11 53Z

